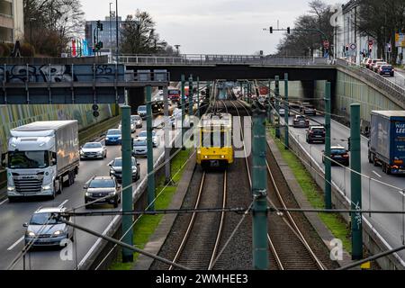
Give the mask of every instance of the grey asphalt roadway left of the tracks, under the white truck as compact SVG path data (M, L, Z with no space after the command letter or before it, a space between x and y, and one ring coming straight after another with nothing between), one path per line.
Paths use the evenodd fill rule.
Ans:
M163 121L162 116L158 116L154 125L157 126ZM146 121L143 123L143 128L146 129ZM164 151L163 130L157 130L157 135L161 137L161 144L158 148L154 148L154 157L157 158ZM138 134L139 130L135 134ZM173 131L172 131L173 133ZM110 167L108 163L114 157L121 156L121 146L108 146L107 158L103 160L86 160L81 161L79 174L76 175L76 182L70 187L64 189L61 195L58 195L54 201L36 200L31 202L4 202L0 205L0 269L5 269L13 261L14 257L23 248L23 234L25 228L23 223L31 218L33 211L40 206L53 206L55 204L65 203L67 208L77 207L84 204L83 185L91 178L92 175L108 175ZM133 184L133 189L140 183L143 177L147 174L147 159L139 158L141 179ZM113 210L109 205L99 206L94 210L107 209ZM118 209L121 209L121 206ZM77 211L85 211L85 208L80 208ZM75 221L79 225L94 229L98 232L103 232L104 229L111 223L113 216L103 217L81 217ZM73 219L72 219L73 220ZM73 243L73 259L63 261L59 257L59 249L40 249L29 253L26 257L26 267L31 263L31 269L74 269L81 261L87 251L94 245L96 237L76 230L76 241ZM30 260L30 261L29 261ZM14 269L23 269L23 261L20 260Z

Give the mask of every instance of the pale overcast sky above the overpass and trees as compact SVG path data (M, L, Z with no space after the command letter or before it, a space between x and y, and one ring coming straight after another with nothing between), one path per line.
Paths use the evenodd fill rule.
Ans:
M336 4L337 0L323 0ZM115 0L81 0L86 20L104 19ZM308 13L310 0L118 0L118 14L126 17L139 8L157 23L160 39L181 45L187 54L253 54L275 52L282 32L269 34L263 28L293 27L294 20Z

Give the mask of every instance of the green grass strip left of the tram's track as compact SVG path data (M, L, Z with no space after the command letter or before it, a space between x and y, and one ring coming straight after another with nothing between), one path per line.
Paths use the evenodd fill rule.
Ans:
M155 202L155 209L166 209L172 202L172 197L177 189L177 184L180 181L184 172L184 163L190 157L190 149L180 151L171 162L171 172L174 184L168 185L165 188L165 176L162 176L157 181L156 195L160 193ZM178 173L177 173L178 172ZM162 191L163 190L163 191ZM143 249L148 243L148 239L157 229L157 226L162 220L163 214L157 215L143 215L133 227L133 244L139 249ZM134 263L137 261L139 253L133 254L133 263L121 263L121 253L118 253L118 257L114 260L110 269L112 270L130 270Z

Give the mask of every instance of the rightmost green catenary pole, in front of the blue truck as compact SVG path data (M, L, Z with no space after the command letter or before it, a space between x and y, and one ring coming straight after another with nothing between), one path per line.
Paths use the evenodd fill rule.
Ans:
M360 142L360 104L350 105L350 194L351 209L362 209L362 169ZM351 213L352 217L352 259L363 258L363 224L360 212Z

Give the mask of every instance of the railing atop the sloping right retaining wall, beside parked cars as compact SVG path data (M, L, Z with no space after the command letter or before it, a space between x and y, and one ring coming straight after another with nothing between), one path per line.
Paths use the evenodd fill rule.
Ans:
M356 72L360 76L363 76L365 80L377 85L379 88L386 91L388 94L392 95L396 100L402 103L402 107L405 107L405 86L397 85L396 83L390 81L372 70L366 67L358 66L356 63L347 61L346 59L337 59L338 67L346 68L349 71Z

